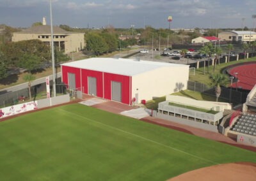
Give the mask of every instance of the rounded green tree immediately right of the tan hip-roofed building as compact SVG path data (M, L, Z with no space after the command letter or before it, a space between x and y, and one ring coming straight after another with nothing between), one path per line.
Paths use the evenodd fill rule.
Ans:
M86 49L99 56L108 51L108 44L99 34L88 33L86 36Z

